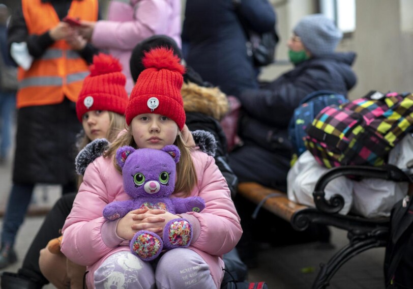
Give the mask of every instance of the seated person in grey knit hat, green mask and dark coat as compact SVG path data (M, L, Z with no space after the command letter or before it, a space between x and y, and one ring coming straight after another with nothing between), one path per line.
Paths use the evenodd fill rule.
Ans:
M347 95L357 82L351 68L356 53L335 51L342 33L333 21L320 14L308 15L292 32L288 40L292 69L263 83L260 89L244 90L238 96L243 110L238 132L243 145L229 154L229 163L240 182L256 182L281 191L287 189L292 152L288 123L294 109L310 93L329 90ZM257 230L281 232L276 241L271 234L259 236L264 242L329 242L330 231L324 225L313 224L304 232L296 232L288 222L265 210L252 219L256 205L240 194L235 196L234 204L244 230L237 248L249 267L259 264L254 244Z

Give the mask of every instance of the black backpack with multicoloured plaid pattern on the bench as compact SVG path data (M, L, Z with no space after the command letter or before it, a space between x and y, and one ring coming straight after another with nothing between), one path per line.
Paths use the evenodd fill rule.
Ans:
M328 106L307 128L305 146L318 163L380 166L413 128L413 94L372 91L340 106Z

